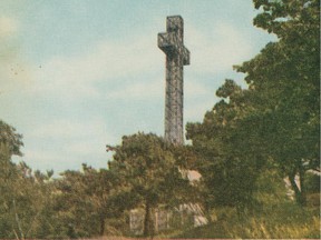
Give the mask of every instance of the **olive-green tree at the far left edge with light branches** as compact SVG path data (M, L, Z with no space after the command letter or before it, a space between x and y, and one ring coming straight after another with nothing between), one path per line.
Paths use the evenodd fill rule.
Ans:
M0 130L0 238L43 238L39 232L54 172L32 172L25 162L12 162L12 154L22 156L22 136L3 121Z

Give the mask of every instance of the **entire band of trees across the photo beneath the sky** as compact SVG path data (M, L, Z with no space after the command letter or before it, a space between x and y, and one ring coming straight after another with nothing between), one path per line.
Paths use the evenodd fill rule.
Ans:
M254 26L274 33L250 61L242 89L227 79L203 122L187 123L191 146L153 133L123 137L108 168L52 172L13 163L22 137L0 121L0 238L80 238L128 233L128 211L145 209L144 234L154 234L157 206L203 204L239 216L265 204L262 176L289 179L302 209L320 192L320 0L254 0ZM191 183L182 172L197 170ZM319 172L319 176L311 172ZM273 173L273 174L272 174ZM270 188L273 194L273 188ZM285 191L284 191L285 197ZM262 199L261 199L262 200ZM320 206L319 206L320 207Z

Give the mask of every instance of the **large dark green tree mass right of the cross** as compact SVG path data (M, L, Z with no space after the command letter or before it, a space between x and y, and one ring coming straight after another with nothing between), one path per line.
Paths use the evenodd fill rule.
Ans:
M235 67L246 74L249 89L227 80L216 92L225 100L203 123L188 123L187 138L202 159L198 168L212 203L223 201L226 191L239 192L234 200L227 198L234 206L251 202L260 169L276 166L304 204L305 171L320 171L320 1L254 4L263 10L254 24L275 33L279 41Z

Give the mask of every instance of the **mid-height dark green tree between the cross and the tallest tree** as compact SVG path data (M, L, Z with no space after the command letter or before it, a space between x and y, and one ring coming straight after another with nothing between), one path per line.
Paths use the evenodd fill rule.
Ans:
M205 184L205 206L236 207L239 213L251 206L255 181L263 167L260 146L253 138L260 134L254 126L244 128L240 119L251 111L251 91L242 90L233 80L226 80L216 91L223 98L202 123L187 123L187 139L198 154L198 171ZM252 129L255 129L253 131Z

